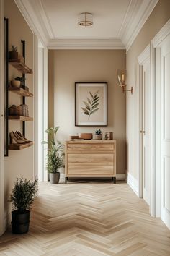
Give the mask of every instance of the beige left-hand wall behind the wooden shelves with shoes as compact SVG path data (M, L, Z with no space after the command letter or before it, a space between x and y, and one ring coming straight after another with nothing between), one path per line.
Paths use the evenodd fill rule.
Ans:
M33 34L22 14L17 9L13 0L5 0L5 17L9 18L9 47L14 44L22 54L21 40L26 41L26 64L33 68ZM9 65L9 81L15 76L22 76L17 69ZM33 74L26 74L26 85L33 92ZM22 97L9 92L9 106L22 103ZM26 98L26 104L29 106L29 114L33 116L33 98ZM9 121L9 132L22 131L22 122ZM33 122L26 123L26 137L33 140ZM16 177L24 176L27 179L33 178L33 147L24 150L9 150L9 157L5 158L5 198L9 200L9 192L14 185ZM6 202L6 212L9 211L9 205Z

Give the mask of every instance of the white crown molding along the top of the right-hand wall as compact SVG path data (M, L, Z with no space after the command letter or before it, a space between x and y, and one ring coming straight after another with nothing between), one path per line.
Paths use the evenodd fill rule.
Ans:
M125 44L127 51L132 46L146 20L148 20L157 2L158 0L130 1L130 8L128 8L128 13L120 33L120 38L122 43Z

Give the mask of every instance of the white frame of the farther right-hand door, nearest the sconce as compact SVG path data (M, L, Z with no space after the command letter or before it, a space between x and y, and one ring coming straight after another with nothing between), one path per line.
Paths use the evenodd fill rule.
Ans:
M138 56L138 197L143 198L143 65L150 61L150 45ZM151 202L150 202L151 205Z

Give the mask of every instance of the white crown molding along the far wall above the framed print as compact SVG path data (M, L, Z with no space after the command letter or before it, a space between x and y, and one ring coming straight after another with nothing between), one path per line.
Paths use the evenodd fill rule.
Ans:
M58 38L49 40L49 49L125 49L120 39Z

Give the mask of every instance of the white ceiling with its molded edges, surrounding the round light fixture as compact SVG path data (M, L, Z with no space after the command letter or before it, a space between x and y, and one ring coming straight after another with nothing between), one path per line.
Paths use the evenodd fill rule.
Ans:
M158 0L15 0L48 48L129 48ZM94 25L80 27L81 12Z

